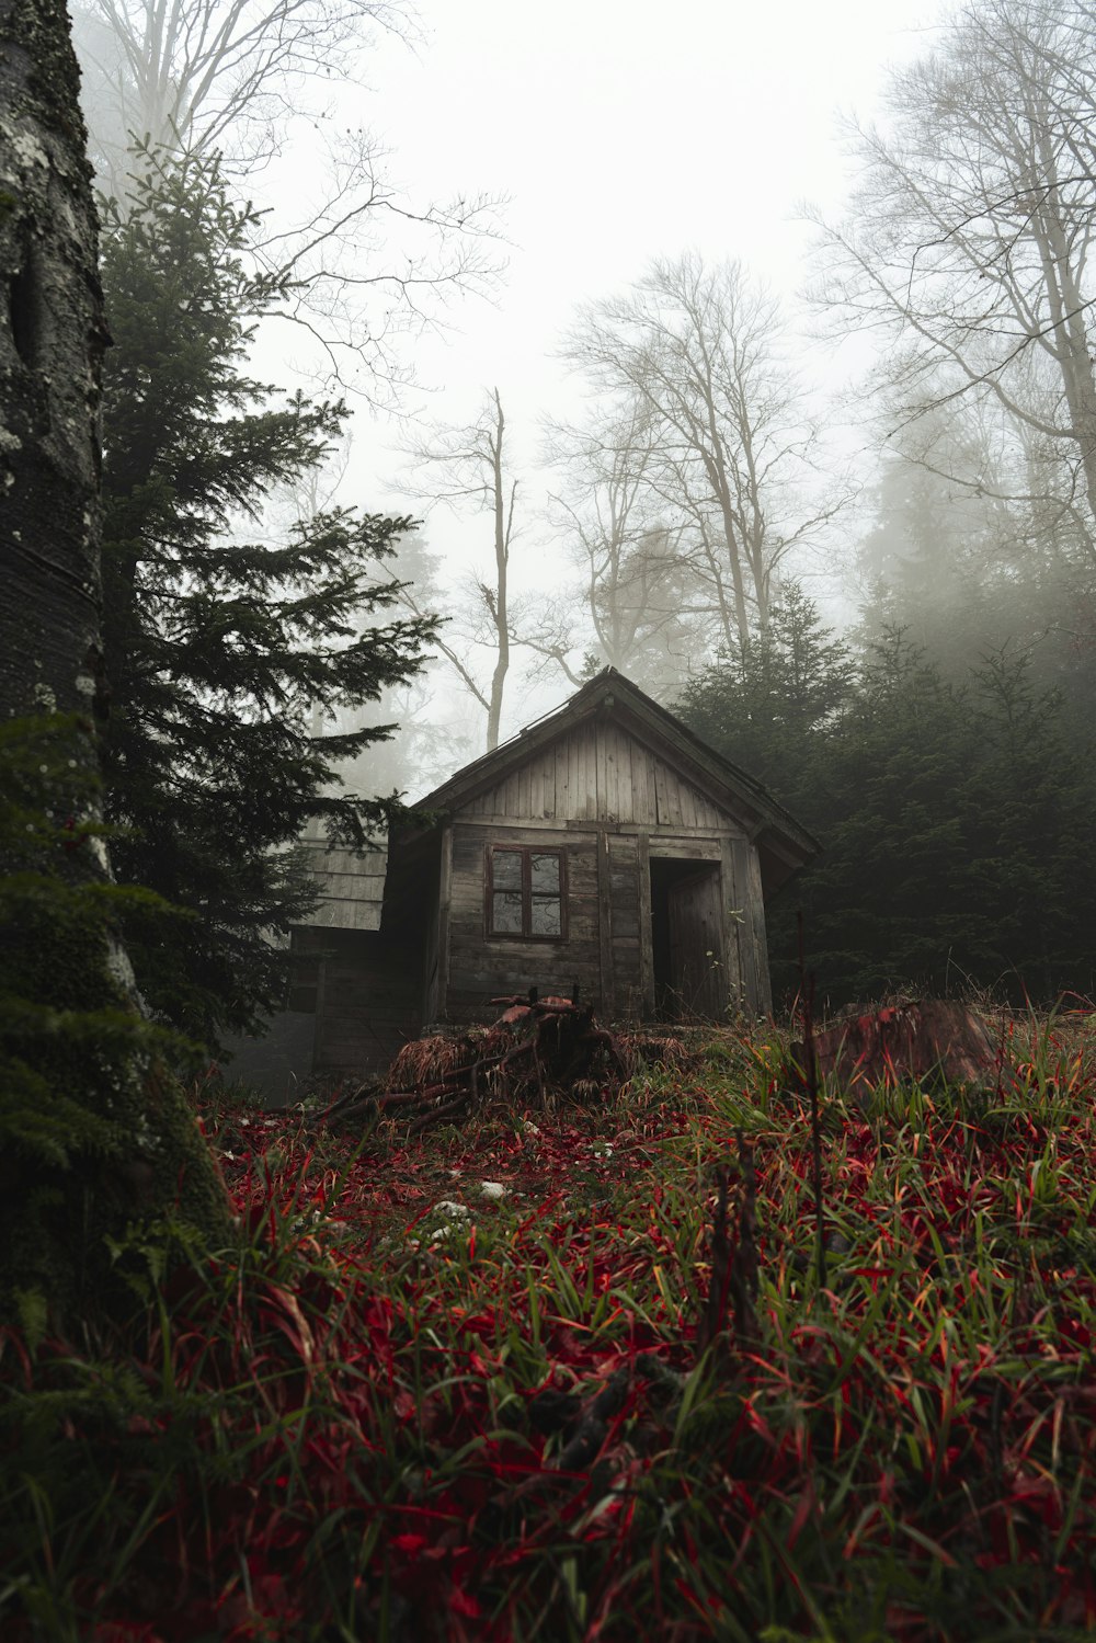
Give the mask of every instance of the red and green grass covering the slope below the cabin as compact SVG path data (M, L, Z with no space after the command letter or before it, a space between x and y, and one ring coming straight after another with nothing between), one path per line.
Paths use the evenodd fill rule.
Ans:
M138 1439L187 1459L113 1584L74 1576L85 1635L1096 1625L1091 1094L1065 1058L1030 1112L831 1104L820 1295L810 1124L772 1089L634 1099L611 1155L605 1112L393 1127L357 1157L294 1116L207 1114L268 1245L176 1280L169 1337L151 1328L154 1393L100 1469L130 1498ZM758 1349L698 1369L710 1168L748 1099ZM511 1196L478 1198L485 1178ZM460 1196L473 1216L431 1247L431 1211ZM66 1352L5 1357L48 1388Z

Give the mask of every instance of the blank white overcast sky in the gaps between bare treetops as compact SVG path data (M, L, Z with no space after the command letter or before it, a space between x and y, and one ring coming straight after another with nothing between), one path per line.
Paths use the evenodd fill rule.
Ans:
M495 304L462 302L455 330L408 343L429 414L467 422L498 384L516 465L534 468L537 419L580 404L552 357L575 304L616 292L656 255L741 258L794 307L810 274L800 207L840 214L851 181L838 117L873 117L887 66L927 48L938 12L940 0L419 0L422 43L381 39L338 118L376 133L417 204L509 196L511 242ZM823 388L846 375L831 353L802 360ZM414 506L386 490L396 439L355 417L347 501ZM541 490L531 473L534 509ZM435 513L426 534L454 564L490 549L483 516ZM552 544L536 541L534 524L514 552L519 588L560 578ZM527 693L511 674L504 733L567 688Z

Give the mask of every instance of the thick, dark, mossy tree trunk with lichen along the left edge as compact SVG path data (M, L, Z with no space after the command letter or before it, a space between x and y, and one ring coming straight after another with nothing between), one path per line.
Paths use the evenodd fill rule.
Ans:
M107 332L77 90L62 0L0 0L0 1306L54 1321L133 1221L230 1227L94 825Z

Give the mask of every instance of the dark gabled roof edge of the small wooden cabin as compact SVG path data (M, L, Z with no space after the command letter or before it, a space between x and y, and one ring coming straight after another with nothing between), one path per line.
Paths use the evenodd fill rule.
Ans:
M454 812L493 787L511 769L575 726L611 716L705 792L721 808L744 815L749 835L769 858L767 887L776 889L820 851L818 841L777 800L667 713L615 667L605 667L555 711L527 725L511 741L473 759L416 803L422 812Z

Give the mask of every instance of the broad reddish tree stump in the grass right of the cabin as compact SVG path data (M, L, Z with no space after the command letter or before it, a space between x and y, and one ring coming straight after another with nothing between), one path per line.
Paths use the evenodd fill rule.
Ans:
M1001 1032L978 1010L948 999L892 1004L848 1015L813 1035L818 1078L833 1075L843 1088L892 1089L904 1079L937 1078L948 1084L984 1084L1001 1076ZM792 1045L807 1073L805 1048Z

